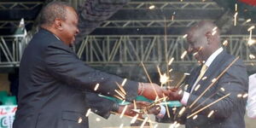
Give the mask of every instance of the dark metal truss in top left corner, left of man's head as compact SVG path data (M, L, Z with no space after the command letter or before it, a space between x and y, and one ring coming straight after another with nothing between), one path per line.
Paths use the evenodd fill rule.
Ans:
M0 10L7 9L25 9L31 10L37 8L43 2L0 2Z

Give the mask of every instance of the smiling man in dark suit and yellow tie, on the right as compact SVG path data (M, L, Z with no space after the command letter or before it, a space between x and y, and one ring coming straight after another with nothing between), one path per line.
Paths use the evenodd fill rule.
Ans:
M247 71L241 60L236 61L218 81L207 90L214 79L235 60L221 47L218 27L210 21L201 21L187 33L188 52L194 54L201 66L195 67L185 79L183 91L172 89L171 100L181 101L184 113L177 111L172 118L165 116L160 122L178 121L187 128L243 128L247 101ZM186 88L187 87L187 88ZM204 90L207 90L201 96ZM182 93L181 93L182 92ZM190 118L189 115L230 93L230 96L212 104ZM199 100L197 101L198 97ZM195 102L195 103L194 103ZM192 105L193 104L193 105ZM211 115L212 112L212 115Z

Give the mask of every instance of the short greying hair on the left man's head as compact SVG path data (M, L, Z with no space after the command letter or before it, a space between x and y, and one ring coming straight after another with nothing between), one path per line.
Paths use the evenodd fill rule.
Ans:
M40 14L39 25L52 25L56 18L66 20L66 7L72 7L65 2L48 3Z

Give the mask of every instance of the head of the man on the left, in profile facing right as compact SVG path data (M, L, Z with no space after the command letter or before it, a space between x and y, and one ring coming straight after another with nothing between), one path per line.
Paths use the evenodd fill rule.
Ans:
M41 12L40 26L53 32L67 45L73 44L79 33L78 22L76 11L67 3L49 3Z

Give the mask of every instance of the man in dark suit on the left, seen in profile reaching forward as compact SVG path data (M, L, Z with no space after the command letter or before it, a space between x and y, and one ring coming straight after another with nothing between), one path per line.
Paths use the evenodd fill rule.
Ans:
M49 3L42 10L40 21L41 29L27 45L20 61L14 128L87 128L85 113L89 104L84 93L91 90L118 95L114 91L119 89L116 83L121 84L124 79L88 67L75 55L69 46L79 33L78 15L67 3ZM96 84L100 85L94 90ZM129 102L137 94L154 99L166 93L157 84L131 80L123 87Z

